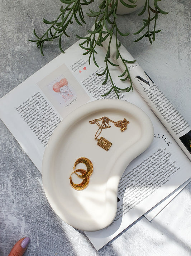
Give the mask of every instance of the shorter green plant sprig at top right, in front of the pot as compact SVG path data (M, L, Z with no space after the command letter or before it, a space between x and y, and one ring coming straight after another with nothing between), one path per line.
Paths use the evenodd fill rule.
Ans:
M151 5L150 5L150 0L145 0L145 4L144 4L144 7L143 7L143 10L138 15L139 16L143 15L145 13L145 11L147 10L148 11L148 18L147 19L143 19L143 24L144 25L142 26L142 28L140 28L140 30L135 32L134 35L138 35L143 30L146 30L146 32L142 36L140 36L137 40L135 40L134 42L138 42L143 37L148 37L149 42L151 44L153 44L152 41L154 42L156 33L161 32L161 30L156 30L156 23L157 23L157 19L158 19L158 14L159 13L161 13L161 14L168 14L168 12L165 12L161 8L159 8L158 1L161 1L161 0L154 0L154 6L153 6L154 9L153 9L151 7ZM152 13L154 14L153 17L151 17ZM153 30L150 29L151 28L151 26L150 26L151 25L151 21L154 21L154 28L153 28ZM151 38L151 36L152 36L152 38Z

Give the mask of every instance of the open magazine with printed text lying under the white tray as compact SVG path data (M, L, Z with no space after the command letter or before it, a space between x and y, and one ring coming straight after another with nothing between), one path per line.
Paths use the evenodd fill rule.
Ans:
M110 81L102 85L104 77L96 75L104 70L104 47L96 50L99 56L97 68L94 64L89 65L89 56L83 55L84 51L78 44L76 42L65 54L60 54L0 99L0 118L40 172L44 150L58 123L82 104L102 99L101 94L111 86ZM123 54L127 54L123 46L122 50ZM121 69L120 63L119 67L110 67L115 84L126 88L128 81L121 81L118 77L123 73ZM148 114L154 126L154 139L151 146L129 164L121 177L114 221L100 231L85 232L96 250L140 216L146 212L148 214L149 210L148 219L151 220L191 178L189 147L185 146L184 149L181 144L191 142L190 126L162 92L156 89L147 74L134 76L133 79L134 84L137 81L142 90L137 88L129 93L121 92L120 99L137 105ZM146 96L149 96L153 107L143 99ZM116 95L113 92L105 98L116 98ZM164 120L168 119L172 132L177 133L174 138L159 121L160 117L156 116L158 112L159 115L162 113ZM181 126L176 127L180 123ZM161 206L160 202L163 203Z

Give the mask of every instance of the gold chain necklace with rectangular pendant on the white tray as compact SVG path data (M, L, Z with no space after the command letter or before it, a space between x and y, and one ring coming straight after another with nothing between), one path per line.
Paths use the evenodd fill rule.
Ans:
M99 121L102 121L101 124L99 123ZM110 118L104 116L101 118L96 118L92 121L89 121L91 124L96 124L99 128L96 131L95 137L94 139L97 140L97 145L99 145L100 147L104 148L106 151L108 151L112 145L111 142L109 142L109 140L105 139L104 137L101 137L100 139L98 139L98 136L101 134L103 129L107 129L110 128L111 126L109 125L109 122L114 123L114 125L116 127L119 127L121 129L121 132L123 133L126 130L126 126L128 125L129 121L127 121L125 118L122 120L119 120L117 122L114 122L113 120L111 120Z

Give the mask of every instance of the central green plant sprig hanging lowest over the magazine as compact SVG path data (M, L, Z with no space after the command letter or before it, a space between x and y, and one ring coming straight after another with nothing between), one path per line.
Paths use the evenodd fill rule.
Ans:
M120 0L123 2L123 0ZM133 2L133 0L131 0ZM125 5L128 5L125 3ZM129 70L128 67L126 66L126 63L134 63L136 60L134 61L129 61L129 60L125 60L119 51L120 45L121 43L118 42L117 37L118 37L118 33L121 36L128 36L128 33L122 33L117 24L116 24L116 10L117 10L117 6L118 6L118 0L103 0L102 3L99 5L99 11L95 12L94 10L90 9L90 13L87 13L87 15L89 17L95 17L95 26L94 26L94 30L93 31L88 31L89 32L89 36L86 37L80 37L77 36L79 39L82 39L83 42L80 43L80 47L84 50L86 50L86 52L84 54L89 54L89 63L91 61L91 58L93 59L95 65L97 67L98 64L96 62L96 58L95 58L95 54L97 54L95 48L96 46L103 46L103 42L108 39L109 40L109 44L108 44L108 49L105 55L105 69L102 73L97 73L98 76L103 76L105 75L105 80L102 83L103 85L108 82L111 81L111 88L109 89L109 91L101 96L106 96L109 93L111 93L112 90L115 91L115 94L117 95L117 97L119 98L119 93L120 91L130 91L133 90L133 86L132 86L132 79L129 75ZM131 8L134 8L135 5L128 5L132 6ZM124 66L125 66L125 72L123 72L122 75L120 75L119 77L124 77L125 78L121 78L122 81L127 80L127 78L129 78L130 80L130 87L126 87L126 88L119 88L117 87L114 82L113 79L111 77L111 73L110 73L110 69L109 69L109 64L112 66L119 66L118 64L115 64L113 62L111 62L110 60L110 45L111 45L111 39L114 35L115 32L115 39L116 39L116 60L118 58L121 59L121 61L123 62ZM97 35L97 37L96 37ZM84 46L86 45L86 46Z

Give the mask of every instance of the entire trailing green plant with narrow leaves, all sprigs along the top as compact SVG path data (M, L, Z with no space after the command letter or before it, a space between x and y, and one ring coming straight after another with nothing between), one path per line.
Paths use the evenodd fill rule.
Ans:
M46 19L43 19L43 22L46 24L49 24L50 27L41 37L38 36L34 30L34 35L35 35L35 37L37 37L37 40L29 40L29 41L36 42L37 47L40 48L40 52L44 56L44 54L43 54L44 42L45 41L53 41L54 39L58 38L59 49L61 50L61 52L64 53L64 50L62 49L62 46L61 46L62 36L70 37L70 35L68 35L66 30L67 30L68 26L73 23L73 21L76 21L77 24L79 24L80 26L82 26L83 23L86 23L85 17L83 15L82 5L89 5L93 1L94 0L89 0L89 1L87 1L87 0L61 0L61 2L63 4L65 4L66 6L65 6L65 8L63 8L63 6L61 6L60 14L58 15L58 18L54 21L47 21ZM136 6L135 3L137 0L128 0L131 3L131 5L124 2L124 0L119 0L119 1L125 7L134 8ZM143 37L148 37L149 41L152 44L152 41L155 40L156 33L161 31L161 30L156 30L156 22L157 22L158 14L159 13L167 14L167 12L165 12L161 8L159 8L158 1L161 1L161 0L152 0L154 2L153 7L151 6L150 1L151 0L145 0L145 5L143 7L143 10L138 14L138 15L143 15L147 10L148 18L143 19L144 24L143 24L142 28L140 28L140 30L138 30L134 34L138 35L140 32L142 32L144 30L146 30L146 32L141 37L139 37L137 40L135 40L134 42L141 40ZM121 43L120 43L120 41L117 40L118 34L126 37L129 35L129 32L122 33L117 26L117 23L116 23L117 7L118 7L118 0L102 0L102 3L99 5L98 10L94 11L94 10L90 9L89 10L90 12L86 13L87 16L89 16L91 18L95 18L94 30L88 31L89 35L87 35L85 37L81 37L78 35L76 35L76 36L78 39L82 39L82 42L80 43L80 47L82 49L86 50L86 52L84 54L89 54L89 63L91 62L91 59L93 59L93 62L97 67L99 67L99 66L96 62L96 54L97 54L96 46L103 46L103 42L106 39L109 40L108 49L107 49L105 59L104 59L105 69L102 73L97 73L97 75L105 76L105 80L102 84L105 84L106 82L111 81L111 88L109 89L108 92L106 92L102 96L106 96L109 93L111 93L111 91L114 90L117 97L119 98L120 91L128 92L130 90L133 90L132 80L129 75L129 70L128 70L126 63L134 63L136 60L133 60L133 61L126 60L120 54L119 48L120 48ZM153 14L153 16L152 16L152 14ZM154 21L153 30L151 30L151 21ZM125 81L128 78L130 81L130 86L126 87L126 88L117 87L114 84L113 79L111 77L111 73L110 73L110 65L118 66L118 64L113 63L110 59L111 39L114 34L115 34L115 39L116 39L116 60L120 58L120 60L122 61L123 65L124 65L124 69L125 69L123 74L119 75L119 77L121 77L120 78L121 81ZM122 78L122 77L124 77L124 78Z

